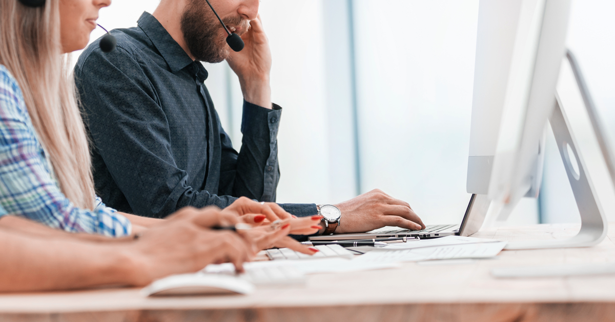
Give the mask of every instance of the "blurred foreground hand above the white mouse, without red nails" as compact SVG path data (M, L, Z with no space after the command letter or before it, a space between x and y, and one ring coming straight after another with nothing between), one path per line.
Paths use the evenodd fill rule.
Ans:
M136 269L135 285L146 285L170 274L196 272L212 263L233 263L237 272L255 255L255 247L232 231L213 231L231 226L237 217L216 207L185 207L152 228L141 232L127 247ZM138 272L138 273L136 273Z

